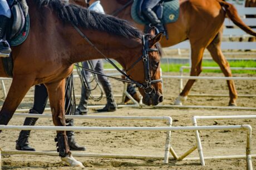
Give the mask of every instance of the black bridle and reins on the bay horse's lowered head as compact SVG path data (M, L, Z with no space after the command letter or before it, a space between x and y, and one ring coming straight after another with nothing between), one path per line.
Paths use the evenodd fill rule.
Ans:
M146 94L151 94L151 92L153 91L151 84L154 83L159 83L162 82L161 79L156 79L156 80L151 80L151 73L150 73L150 65L149 65L149 51L157 51L159 52L159 49L157 48L149 48L149 38L145 35L142 35L142 44L143 44L143 48L142 48L142 56L140 56L130 67L129 69L125 70L126 72L131 70L132 68L134 68L134 66L140 61L143 61L143 65L144 65L144 75L145 75L145 80L144 83L139 83L133 79L130 78L129 75L127 75L124 71L120 70L109 58L107 58L106 55L104 55L97 47L95 47L95 45L86 37L85 34L83 34L81 32L81 30L79 28L76 27L76 25L73 25L73 27L77 30L77 32L83 37L83 39L85 39L95 50L97 50L102 56L104 56L104 59L107 60L112 66L114 66L115 69L117 69L117 71L119 71L122 75L125 76L126 79L120 79L120 78L116 78L114 76L108 76L105 74L101 74L97 71L91 70L91 69L87 69L84 68L80 65L75 64L76 66L83 68L84 70L90 71L91 73L95 73L98 75L102 75L102 76L106 76L108 78L113 78L115 80L119 80L119 81L123 81L126 83L131 83L131 84L135 84L137 87L140 87L141 89L144 89L144 92Z

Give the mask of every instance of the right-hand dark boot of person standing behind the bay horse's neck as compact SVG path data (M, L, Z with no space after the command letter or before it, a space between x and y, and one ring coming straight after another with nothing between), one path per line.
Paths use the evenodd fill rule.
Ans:
M117 105L114 99L114 96L112 94L112 88L111 88L111 84L110 81L103 81L102 82L102 87L104 89L104 92L106 94L107 97L107 104L103 109L98 109L98 112L110 112L110 111L116 111L117 110Z

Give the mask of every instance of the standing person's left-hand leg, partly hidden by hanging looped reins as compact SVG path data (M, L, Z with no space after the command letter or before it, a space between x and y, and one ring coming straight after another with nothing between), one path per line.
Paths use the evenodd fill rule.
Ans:
M83 62L83 67L88 68L88 63L85 61ZM90 76L90 73L88 71L82 70L81 76L88 80L88 77ZM88 81L87 81L88 82ZM90 84L88 84L88 87L90 87ZM90 96L90 92L82 85L81 87L81 98L79 105L77 106L76 109L76 115L87 115L88 109L87 109L87 104L88 104L88 99Z

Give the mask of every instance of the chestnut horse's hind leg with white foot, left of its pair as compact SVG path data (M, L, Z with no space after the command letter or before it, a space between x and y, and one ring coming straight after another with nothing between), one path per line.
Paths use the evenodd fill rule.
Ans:
M202 59L203 59L203 53L205 48L198 48L191 46L191 70L190 70L190 76L198 76L202 71ZM195 80L189 79L186 85L184 86L184 89L181 91L178 98L175 99L174 105L183 105L182 102L186 100L189 91L193 84L195 83Z

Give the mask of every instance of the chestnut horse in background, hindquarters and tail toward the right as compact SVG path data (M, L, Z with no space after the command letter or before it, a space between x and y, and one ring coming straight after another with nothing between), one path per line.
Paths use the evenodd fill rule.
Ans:
M82 0L75 1L85 5ZM130 0L101 0L106 13L117 13L117 17L129 20L137 28L144 30L144 25L135 23L131 18L131 3L123 8L127 2ZM119 9L122 10L119 11ZM221 0L180 0L179 19L175 23L166 24L169 39L163 38L160 43L162 47L170 47L189 39L191 44L191 76L198 76L201 73L205 48L210 51L213 60L219 64L224 75L232 76L229 63L220 49L226 14L238 27L248 34L256 36L256 33L242 22L232 4ZM188 80L175 101L176 105L182 105L182 101L186 100L194 82L195 80ZM227 80L227 83L230 96L229 106L236 106L237 91L234 81Z

